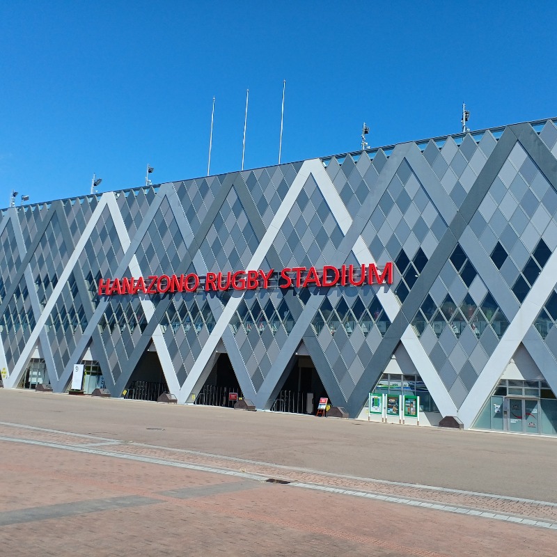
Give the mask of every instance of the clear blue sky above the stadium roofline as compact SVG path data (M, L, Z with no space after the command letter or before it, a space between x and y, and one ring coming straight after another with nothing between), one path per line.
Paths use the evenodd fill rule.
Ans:
M0 207L557 116L554 1L4 1ZM18 201L19 203L19 201Z

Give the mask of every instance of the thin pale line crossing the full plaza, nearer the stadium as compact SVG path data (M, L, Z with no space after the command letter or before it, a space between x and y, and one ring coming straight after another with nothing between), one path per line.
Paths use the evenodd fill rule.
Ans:
M120 443L120 444L133 444L134 446L137 446L137 447L156 448L156 449L161 449L161 450L168 450L170 452L175 452L175 453L183 453L183 454L196 455L196 456L202 456L202 457L211 457L211 458L216 458L216 459L221 459L221 460L230 460L231 462L241 462L242 464L256 464L258 466L272 466L276 469L281 469L281 470L285 470L285 471L295 471L295 472L301 472L301 473L319 474L320 476L327 476L327 477L331 477L331 478L341 478L341 479L345 479L345 480L356 480L356 481L361 481L361 482L366 482L366 483L379 483L379 484L383 484L383 485L393 485L393 486L398 486L398 487L416 487L418 489L431 489L432 491L445 492L445 493L471 495L471 496L487 497L489 499L501 499L503 501L513 501L513 502L519 502L519 503L531 503L531 504L535 504L535 505L545 505L545 506L549 506L549 507L557 507L557 503L553 503L551 501L538 501L536 499L524 499L523 497L512 497L512 496L508 496L508 495L497 495L497 494L483 493L483 492L471 492L471 491L466 491L466 489L451 489L450 487L439 487L439 486L435 486L435 485L422 485L422 484L416 484L416 483L396 482L396 481L393 481L393 480L378 480L376 478L365 478L365 477L362 477L362 476L351 476L349 474L337 474L337 473L326 472L326 471L321 471L321 470L314 470L314 469L310 469L310 468L301 468L301 467L297 467L297 466L286 466L284 464L273 464L272 462L262 462L262 461L259 461L259 460L249 460L249 459L243 459L243 458L239 458L239 457L230 457L230 456L226 456L226 455L216 455L214 453L204 453L204 452L198 451L198 450L181 449L181 448L175 448L175 447L164 447L164 446L160 446L160 445L150 445L150 444L145 444L145 443L136 443L134 441L123 441L123 440L110 439L108 437L95 437L95 436L89 435L89 434L71 433L71 432L64 432L64 431L61 431L61 430L51 430L51 429L47 429L47 428L44 428L44 427L37 427L37 426L34 426L34 425L23 425L23 424L18 424L18 423L1 422L1 421L0 421L0 425L7 425L7 426L10 426L10 427L22 427L24 429L38 430L38 431L44 431L44 432L49 432L49 433L65 434L65 435L70 435L72 437L83 437L83 438L86 438L86 439L100 439L102 441L118 441L118 443ZM90 444L86 444L86 446L88 446L88 445L90 445ZM83 445L81 445L81 446L83 446ZM171 461L168 461L168 462L171 462Z

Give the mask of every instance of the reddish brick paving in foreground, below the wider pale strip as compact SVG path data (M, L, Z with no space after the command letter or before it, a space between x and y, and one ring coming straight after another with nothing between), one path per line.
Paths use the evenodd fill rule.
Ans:
M10 557L549 556L557 540L541 528L8 441L0 469ZM192 496L168 494L178 488ZM6 492L19 503L16 524L6 524Z

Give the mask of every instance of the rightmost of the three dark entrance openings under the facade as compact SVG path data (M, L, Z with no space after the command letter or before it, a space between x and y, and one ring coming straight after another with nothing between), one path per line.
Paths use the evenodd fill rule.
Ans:
M329 398L310 356L298 356L271 411L316 414L319 399Z

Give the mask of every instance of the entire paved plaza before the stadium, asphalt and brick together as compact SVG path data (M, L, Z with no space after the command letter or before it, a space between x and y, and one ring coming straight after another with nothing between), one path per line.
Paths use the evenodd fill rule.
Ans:
M521 556L557 439L0 389L6 556Z

